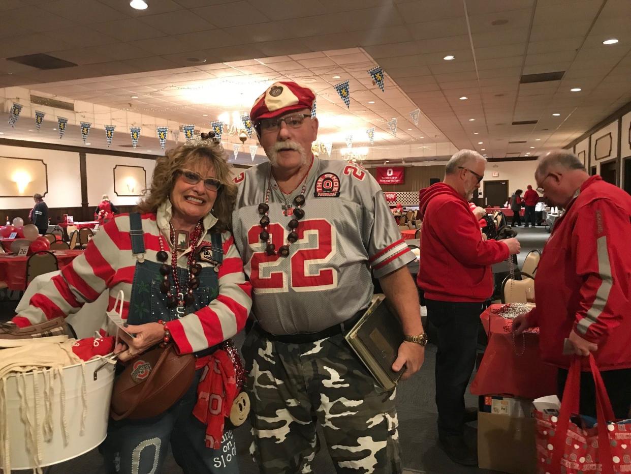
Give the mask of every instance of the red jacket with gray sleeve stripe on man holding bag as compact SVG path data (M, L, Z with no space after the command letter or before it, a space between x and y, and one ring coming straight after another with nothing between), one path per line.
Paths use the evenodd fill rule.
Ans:
M534 279L537 307L528 316L540 327L546 362L569 366L563 343L575 331L598 344L601 370L631 368L630 219L631 196L592 176L555 222Z

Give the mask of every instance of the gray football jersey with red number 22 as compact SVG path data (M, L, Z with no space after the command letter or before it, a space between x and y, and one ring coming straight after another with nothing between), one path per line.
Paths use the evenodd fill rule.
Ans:
M252 311L271 334L316 332L350 319L370 304L371 271L382 277L414 260L401 239L377 181L361 167L314 157L304 184L305 216L290 255L265 252L259 204L269 186L270 240L286 245L293 199L284 195L269 162L234 179L239 185L232 214L235 244L254 295ZM288 209L288 210L285 210Z

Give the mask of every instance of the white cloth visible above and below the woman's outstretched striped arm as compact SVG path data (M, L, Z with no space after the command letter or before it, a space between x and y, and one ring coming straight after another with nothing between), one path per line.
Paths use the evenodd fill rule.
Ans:
M15 308L16 314L20 314L20 311L28 308L28 301L30 301L32 296L40 291L42 286L56 275L59 275L59 270L33 278L33 281L27 286L27 291L24 292L20 303L18 303L18 306ZM81 308L79 312L71 314L66 318L68 324L70 324L74 332L76 332L77 337L80 339L91 337L94 336L95 331L98 331L102 327L107 327L105 322L107 316L105 312L107 311L108 295L109 293L105 291L96 301L83 305L83 308Z

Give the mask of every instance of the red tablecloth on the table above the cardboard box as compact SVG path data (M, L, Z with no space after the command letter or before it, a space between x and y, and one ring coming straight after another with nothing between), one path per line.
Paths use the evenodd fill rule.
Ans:
M509 394L534 399L557 393L557 368L541 361L539 335L513 336L504 330L508 319L495 315L491 305L480 315L488 345L471 384L474 395ZM522 345L526 341L526 348ZM524 353L521 354L522 349Z

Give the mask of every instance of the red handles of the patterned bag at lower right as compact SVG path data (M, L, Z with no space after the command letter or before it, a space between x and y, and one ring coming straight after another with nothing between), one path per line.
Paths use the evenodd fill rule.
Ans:
M589 368L594 378L596 387L596 416L598 419L598 450L599 462L603 467L603 474L614 474L613 460L611 458L611 445L607 429L607 421L615 420L611 401L604 386L603 378L600 375L596 360L592 354L589 355ZM572 413L579 413L581 399L581 358L575 356L570 365L570 370L565 380L563 389L563 400L561 410L558 415L558 423L555 436L551 439L553 447L551 465L558 466L563 456L567 429L570 425Z

